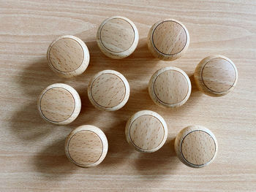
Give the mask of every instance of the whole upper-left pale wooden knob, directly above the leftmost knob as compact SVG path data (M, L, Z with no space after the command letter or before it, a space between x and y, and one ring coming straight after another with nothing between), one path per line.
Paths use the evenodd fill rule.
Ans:
M61 77L82 74L89 65L90 55L86 44L72 35L55 39L47 51L48 65Z

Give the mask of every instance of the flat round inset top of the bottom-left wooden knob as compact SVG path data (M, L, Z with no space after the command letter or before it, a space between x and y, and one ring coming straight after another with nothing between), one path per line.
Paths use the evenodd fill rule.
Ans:
M69 140L68 152L70 158L82 166L97 162L102 155L102 141L92 131L79 131Z

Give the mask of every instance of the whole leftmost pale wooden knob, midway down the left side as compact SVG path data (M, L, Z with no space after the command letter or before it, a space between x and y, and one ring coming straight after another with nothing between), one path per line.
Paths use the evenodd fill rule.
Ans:
M42 91L37 107L44 120L66 125L78 117L81 100L74 88L63 83L56 83Z

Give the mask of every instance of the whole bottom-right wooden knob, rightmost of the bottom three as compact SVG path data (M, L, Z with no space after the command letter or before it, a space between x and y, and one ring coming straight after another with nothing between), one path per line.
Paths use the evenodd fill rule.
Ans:
M181 162L193 168L211 164L218 151L216 137L203 126L182 129L175 139L174 147Z

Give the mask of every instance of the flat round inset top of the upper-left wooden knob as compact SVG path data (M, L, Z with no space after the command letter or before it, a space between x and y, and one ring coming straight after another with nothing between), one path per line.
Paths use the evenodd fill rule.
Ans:
M50 64L60 72L72 72L83 63L83 48L75 39L62 38L49 50Z

